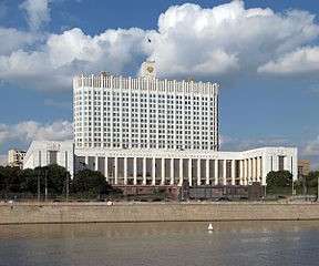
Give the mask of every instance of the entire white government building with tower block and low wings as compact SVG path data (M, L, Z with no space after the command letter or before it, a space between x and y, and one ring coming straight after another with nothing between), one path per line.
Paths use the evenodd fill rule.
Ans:
M61 144L59 150L58 142L41 142L47 146L41 155L32 144L24 167L38 166L39 156L50 157L53 151L61 157L55 162L70 168L73 160L65 160L63 146L69 146L70 155L74 144L75 172L101 171L119 186L182 185L184 181L266 185L266 175L279 170L297 178L296 147L218 151L218 84L160 80L155 62L144 62L140 78L106 72L74 76L73 104L74 143Z

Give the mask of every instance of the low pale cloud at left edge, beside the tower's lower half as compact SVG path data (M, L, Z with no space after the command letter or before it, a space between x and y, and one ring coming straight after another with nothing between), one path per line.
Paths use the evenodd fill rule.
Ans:
M25 121L13 125L0 124L0 144L13 141L28 144L34 140L62 141L72 137L73 123L63 120L51 124L41 124L35 121Z

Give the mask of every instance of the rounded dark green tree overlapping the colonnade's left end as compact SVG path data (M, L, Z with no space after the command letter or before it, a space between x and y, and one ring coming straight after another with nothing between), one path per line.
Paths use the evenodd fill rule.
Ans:
M72 181L73 192L82 194L109 194L112 186L105 176L97 171L81 170Z

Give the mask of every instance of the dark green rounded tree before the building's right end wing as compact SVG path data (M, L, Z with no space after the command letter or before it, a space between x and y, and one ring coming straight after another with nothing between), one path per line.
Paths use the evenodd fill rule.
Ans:
M289 171L271 171L266 176L267 188L291 187L292 174Z

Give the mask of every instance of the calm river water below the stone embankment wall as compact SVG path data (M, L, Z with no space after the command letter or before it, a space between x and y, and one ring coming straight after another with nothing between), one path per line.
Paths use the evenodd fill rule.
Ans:
M319 222L0 225L0 265L319 265Z

